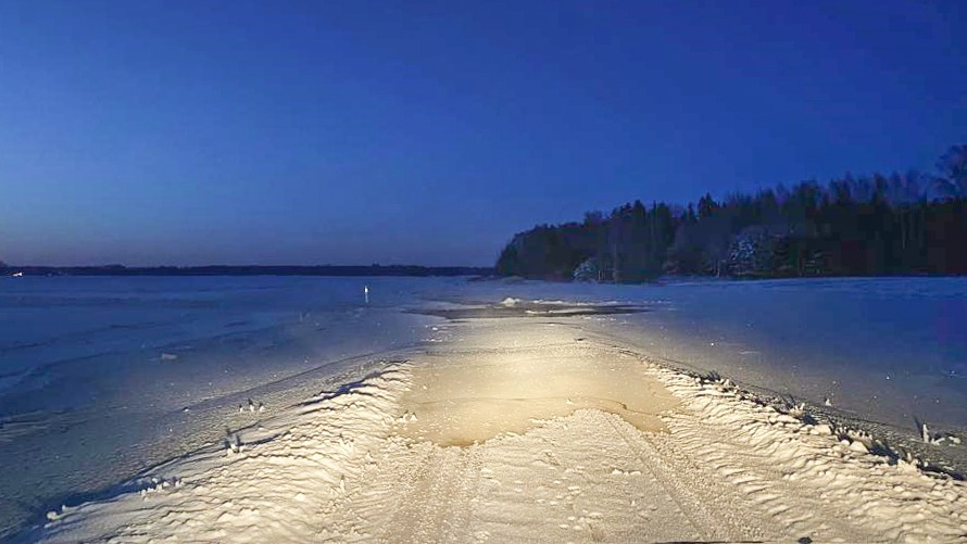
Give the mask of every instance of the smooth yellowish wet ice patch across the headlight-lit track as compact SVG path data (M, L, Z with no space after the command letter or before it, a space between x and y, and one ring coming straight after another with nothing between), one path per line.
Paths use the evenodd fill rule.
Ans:
M413 369L403 395L402 434L440 445L469 445L524 433L540 421L594 408L644 431L678 402L641 362L589 345L510 353L449 354Z

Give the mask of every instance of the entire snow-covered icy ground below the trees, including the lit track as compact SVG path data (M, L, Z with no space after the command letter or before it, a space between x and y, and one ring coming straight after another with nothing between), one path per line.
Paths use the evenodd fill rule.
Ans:
M0 534L955 541L965 305L947 279L4 278Z

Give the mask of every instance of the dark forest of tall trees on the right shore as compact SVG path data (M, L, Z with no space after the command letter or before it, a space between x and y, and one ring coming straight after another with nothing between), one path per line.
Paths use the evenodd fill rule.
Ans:
M637 282L663 274L733 277L967 274L967 144L938 175L803 181L674 206L640 201L581 223L516 235L497 273Z

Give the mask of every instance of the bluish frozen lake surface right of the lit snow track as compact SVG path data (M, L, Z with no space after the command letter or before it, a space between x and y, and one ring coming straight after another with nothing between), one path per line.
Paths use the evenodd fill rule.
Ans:
M525 282L491 300L617 301L586 326L668 363L916 431L967 434L967 278Z

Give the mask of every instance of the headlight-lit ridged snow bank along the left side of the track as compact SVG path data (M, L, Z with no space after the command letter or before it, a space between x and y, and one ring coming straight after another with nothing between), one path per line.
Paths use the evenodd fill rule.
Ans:
M407 388L404 365L227 433L222 447L162 465L137 492L48 513L45 542L180 539L309 542L318 513L372 463ZM335 534L352 535L352 531Z

